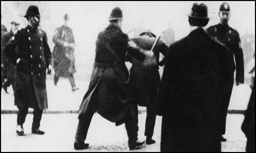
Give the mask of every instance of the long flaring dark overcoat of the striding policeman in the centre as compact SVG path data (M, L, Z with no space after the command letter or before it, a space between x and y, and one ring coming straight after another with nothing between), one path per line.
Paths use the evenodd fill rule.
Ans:
M98 112L111 122L120 122L132 107L129 71L125 66L126 53L133 50L129 49L128 41L128 36L114 24L99 33L91 82L78 118ZM139 55L140 61L144 60L144 54Z

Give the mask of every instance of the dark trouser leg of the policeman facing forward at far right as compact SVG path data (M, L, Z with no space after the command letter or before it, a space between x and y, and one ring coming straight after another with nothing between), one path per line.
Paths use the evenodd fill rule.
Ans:
M221 134L226 133L226 118L229 106L230 97L232 94L234 79L227 80L223 83L222 104L221 104Z

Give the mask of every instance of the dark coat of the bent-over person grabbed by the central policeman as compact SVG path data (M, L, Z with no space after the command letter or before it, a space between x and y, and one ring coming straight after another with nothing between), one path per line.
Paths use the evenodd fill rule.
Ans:
M140 48L144 50L151 50L156 38L148 36L140 36L132 38ZM133 61L130 69L129 82L132 85L133 100L137 101L139 106L156 105L157 91L160 85L159 66L163 66L164 60L159 61L159 54L167 55L168 47L162 42L158 41L154 49L154 58L156 58L156 65L145 66L143 62L137 60Z

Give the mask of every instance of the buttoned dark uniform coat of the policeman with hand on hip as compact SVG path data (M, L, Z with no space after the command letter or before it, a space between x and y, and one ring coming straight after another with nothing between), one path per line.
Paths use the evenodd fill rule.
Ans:
M5 54L17 65L15 105L47 109L46 68L51 64L52 54L46 33L28 25L14 37L14 41L6 45Z

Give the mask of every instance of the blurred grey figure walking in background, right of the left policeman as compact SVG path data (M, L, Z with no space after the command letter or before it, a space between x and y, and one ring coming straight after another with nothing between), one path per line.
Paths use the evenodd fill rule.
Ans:
M64 15L64 24L55 30L53 42L53 66L55 70L54 84L58 83L59 77L69 78L72 91L78 90L73 74L75 69L75 39L72 29L68 26L69 15Z

